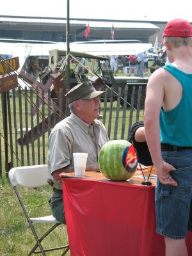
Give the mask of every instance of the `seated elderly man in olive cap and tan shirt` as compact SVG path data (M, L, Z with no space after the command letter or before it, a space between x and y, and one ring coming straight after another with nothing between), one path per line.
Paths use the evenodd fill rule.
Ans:
M52 215L65 223L61 172L74 172L74 152L88 153L86 171L99 170L98 154L108 140L108 132L97 120L99 95L90 81L77 84L65 96L71 115L59 122L49 136L48 182L54 187L49 205Z

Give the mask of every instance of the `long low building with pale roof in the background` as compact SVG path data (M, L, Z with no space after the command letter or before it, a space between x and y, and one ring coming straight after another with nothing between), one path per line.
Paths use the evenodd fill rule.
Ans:
M0 16L0 38L66 42L66 22L61 18ZM86 38L87 24L90 31ZM154 45L158 33L160 44L165 25L166 22L70 19L70 42L110 40L113 27L115 40L141 40Z

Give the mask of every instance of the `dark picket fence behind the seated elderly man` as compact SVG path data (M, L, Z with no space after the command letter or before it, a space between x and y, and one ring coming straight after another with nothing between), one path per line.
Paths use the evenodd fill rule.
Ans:
M140 86L141 87L141 86ZM143 120L142 88L127 87L117 98L105 96L100 104L100 121L106 126L110 140L128 140L131 125ZM136 92L136 93L135 93ZM46 91L39 97L38 90L12 90L1 93L0 103L0 177L8 175L15 166L47 163L48 138L52 127L69 115L63 113L63 92L60 90L60 106ZM109 95L109 93L106 93ZM127 102L129 99L129 102ZM136 103L137 102L137 103ZM67 109L67 106L66 106Z

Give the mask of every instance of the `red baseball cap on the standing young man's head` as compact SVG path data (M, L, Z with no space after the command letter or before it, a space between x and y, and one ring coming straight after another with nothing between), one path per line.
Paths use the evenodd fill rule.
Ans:
M192 26L187 20L171 20L166 24L163 37L192 37Z

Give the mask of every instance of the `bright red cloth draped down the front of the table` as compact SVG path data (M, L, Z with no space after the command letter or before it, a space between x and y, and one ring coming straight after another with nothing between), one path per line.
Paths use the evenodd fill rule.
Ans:
M163 256L155 186L62 178L71 256ZM192 232L187 238L192 255Z

